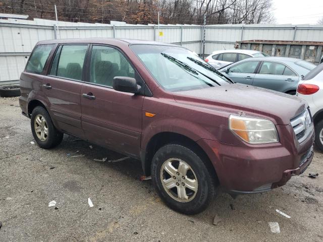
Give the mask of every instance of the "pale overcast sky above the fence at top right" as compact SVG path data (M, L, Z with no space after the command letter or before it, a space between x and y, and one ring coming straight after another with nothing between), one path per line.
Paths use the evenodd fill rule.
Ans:
M277 24L316 24L323 17L323 0L273 0Z

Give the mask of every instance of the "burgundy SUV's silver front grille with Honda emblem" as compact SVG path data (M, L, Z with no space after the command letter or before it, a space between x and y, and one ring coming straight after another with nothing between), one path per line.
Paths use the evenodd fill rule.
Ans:
M291 125L299 143L303 142L306 138L305 131L311 123L312 119L308 109L291 119Z

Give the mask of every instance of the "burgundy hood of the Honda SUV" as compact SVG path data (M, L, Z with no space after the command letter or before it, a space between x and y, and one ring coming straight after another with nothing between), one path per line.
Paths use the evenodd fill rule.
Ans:
M246 113L269 117L276 125L288 125L301 113L306 101L289 94L244 84L231 84L197 90L174 92L177 102L229 114Z

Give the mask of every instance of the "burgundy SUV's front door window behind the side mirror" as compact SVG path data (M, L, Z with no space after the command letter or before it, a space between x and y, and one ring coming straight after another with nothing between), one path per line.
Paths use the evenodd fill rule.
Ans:
M91 54L90 82L112 87L114 77L135 77L126 57L117 49L94 45Z

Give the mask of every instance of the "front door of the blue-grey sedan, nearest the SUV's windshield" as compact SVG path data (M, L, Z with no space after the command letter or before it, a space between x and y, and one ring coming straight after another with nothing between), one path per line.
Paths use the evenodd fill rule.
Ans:
M232 81L252 85L260 61L245 61L225 69L222 73Z

